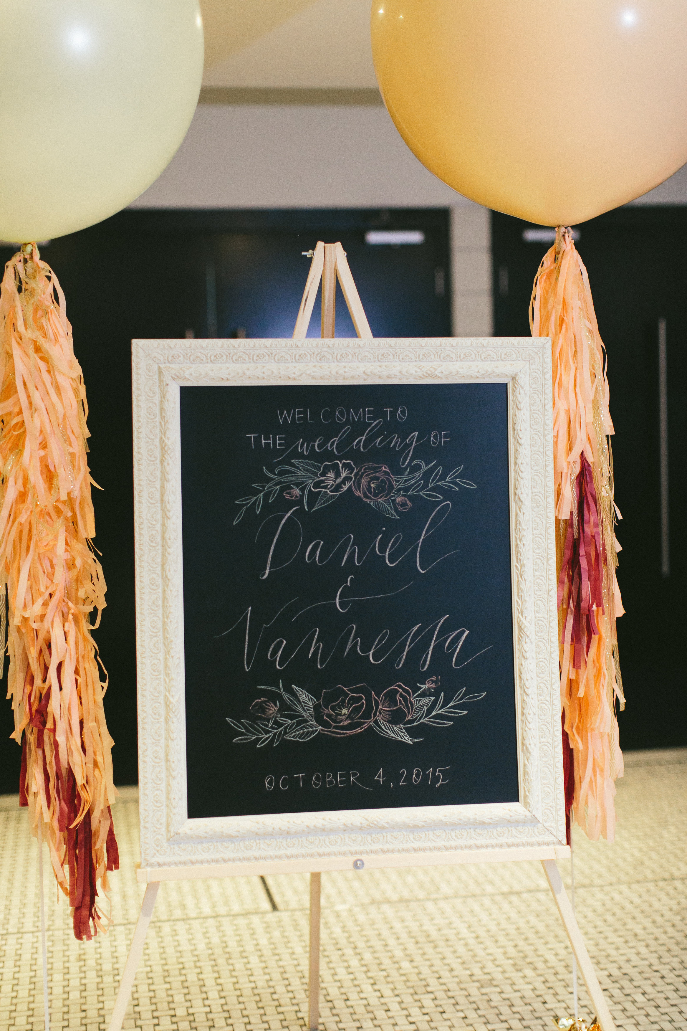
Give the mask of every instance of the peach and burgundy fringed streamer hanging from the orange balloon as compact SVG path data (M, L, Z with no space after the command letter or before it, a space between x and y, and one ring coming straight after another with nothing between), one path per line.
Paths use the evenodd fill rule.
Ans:
M622 776L615 699L624 708L616 617L613 458L606 356L589 277L570 229L535 278L533 336L551 337L558 639L563 729L574 754L574 820L596 839L615 836L615 780ZM568 794L568 793L566 793ZM566 806L571 800L566 798Z

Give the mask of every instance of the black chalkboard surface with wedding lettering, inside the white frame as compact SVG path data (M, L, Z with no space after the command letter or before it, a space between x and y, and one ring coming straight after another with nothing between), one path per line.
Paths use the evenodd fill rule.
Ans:
M506 385L180 408L188 817L517 801Z

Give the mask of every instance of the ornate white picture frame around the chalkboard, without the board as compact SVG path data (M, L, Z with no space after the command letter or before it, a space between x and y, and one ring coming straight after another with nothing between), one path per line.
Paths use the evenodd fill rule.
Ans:
M506 383L519 802L190 820L179 388ZM141 879L550 860L565 845L548 339L135 340Z

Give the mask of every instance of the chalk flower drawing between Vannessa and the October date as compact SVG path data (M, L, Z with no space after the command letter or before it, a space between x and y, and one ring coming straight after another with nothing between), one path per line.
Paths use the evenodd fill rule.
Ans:
M338 685L327 688L317 699L295 684L289 692L280 680L278 688L262 686L257 690L277 693L283 703L282 709L278 701L257 698L250 705L253 720L238 723L229 717L226 719L239 732L233 739L235 744L255 741L259 749L266 744L276 747L280 741L309 741L317 734L349 737L369 729L392 741L414 744L422 740L411 736L416 727L452 727L455 719L468 714L468 710L457 708L458 705L477 702L486 694L483 691L466 695L466 688L462 688L446 702L443 692L438 698L434 697L438 687L436 676L418 684L419 690L415 691L405 684L393 684L381 691L367 684L351 688Z

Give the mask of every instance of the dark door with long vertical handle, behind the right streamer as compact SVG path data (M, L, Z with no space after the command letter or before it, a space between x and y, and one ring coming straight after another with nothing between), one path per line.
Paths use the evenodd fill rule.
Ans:
M494 332L529 333L533 280L549 243L526 242L526 223L492 215ZM541 228L541 227L537 227ZM576 227L608 352L627 749L687 744L682 657L687 548L687 207L626 207ZM658 320L666 321L669 573L661 570Z

